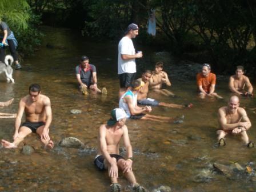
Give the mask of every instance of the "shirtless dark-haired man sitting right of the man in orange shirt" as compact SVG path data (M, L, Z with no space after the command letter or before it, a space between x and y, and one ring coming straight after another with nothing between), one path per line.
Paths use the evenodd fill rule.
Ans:
M229 78L229 89L230 91L239 95L251 96L253 95L253 86L250 83L248 77L243 75L245 73L243 66L237 66L235 75ZM245 90L247 88L247 91Z

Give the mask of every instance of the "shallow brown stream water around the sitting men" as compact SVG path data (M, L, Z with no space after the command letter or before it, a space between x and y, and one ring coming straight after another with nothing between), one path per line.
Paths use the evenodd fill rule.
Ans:
M98 43L82 39L78 34L65 29L45 28L42 50L23 63L22 71L14 71L15 84L0 82L0 101L14 97L13 105L1 112L17 113L18 101L27 94L31 83L42 86L42 94L51 99L53 122L50 136L54 142L63 137L76 137L88 147L97 147L98 127L109 118L110 110L118 106L117 42ZM53 49L46 44L56 42ZM70 42L72 42L70 44ZM107 49L106 49L107 47ZM144 49L143 49L144 50ZM151 50L145 47L146 55ZM97 66L98 86L107 87L107 95L78 92L74 67L79 57L86 54ZM216 147L215 130L218 128L217 110L226 105L230 97L227 82L218 82L218 93L223 100L201 100L195 94L195 82L173 82L172 91L177 98L167 98L150 93L163 102L190 103L193 109L167 109L154 107L153 114L175 117L185 114L185 123L127 121L134 150L134 172L138 182L153 189L168 185L173 191L255 191L255 182L247 175L227 179L225 175L212 174L203 182L198 181L200 171L211 171L214 162L238 162L241 165L255 163L255 149L242 146L238 137L227 138L227 146ZM254 99L242 98L241 106L255 107ZM82 114L71 114L71 109L82 110ZM255 114L247 110L252 124ZM0 137L11 139L14 119L0 119ZM249 130L252 141L256 133L254 126ZM24 141L33 146L35 153L30 156L15 150L0 149L0 191L107 191L107 173L99 172L93 165L95 152L85 153L77 149L56 147L45 151L36 135L31 134ZM121 176L120 182L127 181Z

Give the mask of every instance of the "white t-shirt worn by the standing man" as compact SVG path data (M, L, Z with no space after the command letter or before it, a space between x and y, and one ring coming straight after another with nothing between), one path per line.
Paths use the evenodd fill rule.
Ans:
M122 73L136 73L135 59L123 60L122 55L135 55L133 41L123 37L118 44L118 75Z

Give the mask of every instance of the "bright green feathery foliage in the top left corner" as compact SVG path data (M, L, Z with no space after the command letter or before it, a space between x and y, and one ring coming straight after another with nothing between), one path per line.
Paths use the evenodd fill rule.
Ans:
M30 18L30 6L26 0L1 0L0 19L6 21L9 26L17 29L26 29Z

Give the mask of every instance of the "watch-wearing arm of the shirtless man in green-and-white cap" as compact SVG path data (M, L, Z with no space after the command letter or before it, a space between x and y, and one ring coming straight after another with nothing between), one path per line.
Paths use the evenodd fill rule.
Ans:
M133 147L131 147L127 126L123 126L123 145L125 145L127 157L126 161L123 163L123 173L129 173L129 171L133 170Z

